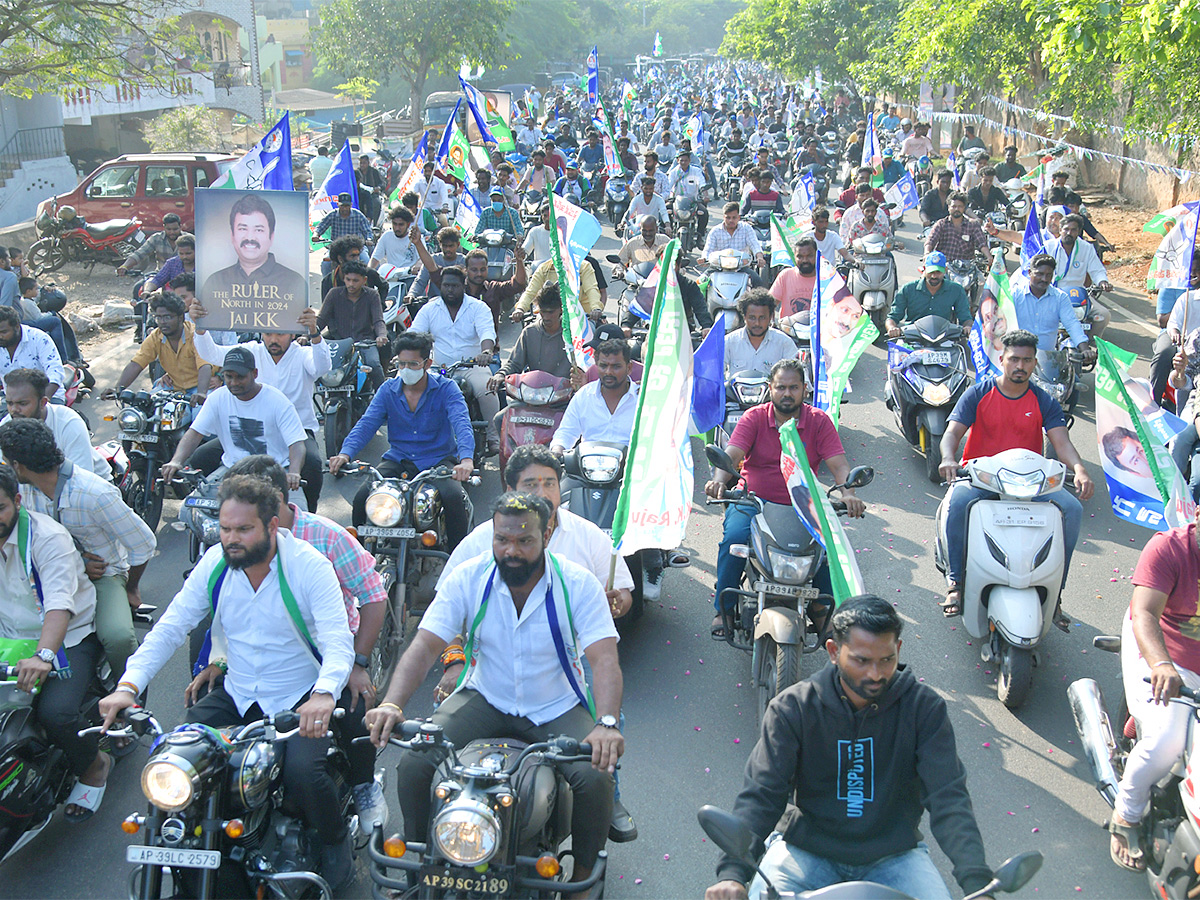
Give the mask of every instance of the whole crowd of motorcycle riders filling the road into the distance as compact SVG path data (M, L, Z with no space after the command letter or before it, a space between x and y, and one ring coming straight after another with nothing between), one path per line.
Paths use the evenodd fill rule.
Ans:
M443 761L421 752L416 726L403 713L434 665L444 677L439 707L422 732L430 742L451 742L460 754L470 742L499 738L533 744L566 736L586 745L571 758L564 754L558 767L574 794L569 880L583 882L580 889L602 878L606 840L636 839L616 773L625 750L618 626L631 620L635 605L658 598L665 572L686 558L665 547L644 552L632 571L629 558L610 565L612 542L601 528L611 520L590 522L563 502L569 480L580 476L571 467L580 464L572 452L581 445L617 448L624 461L653 305L646 290L668 240L679 239L686 254L678 282L696 340L725 318L730 402L719 443L732 464L714 466L704 492L726 505L712 637L737 646L745 630L738 598L758 577L748 565L756 521L779 510L796 518L780 470L785 425L794 424L814 472L826 464L841 511L865 511L834 420L811 404L808 335L818 282L827 277L821 264L845 276L854 316L870 313L881 337L942 353L949 344L928 334L942 328L937 323L961 336L977 311L989 322L996 314L986 272L1003 260L1007 245L1021 245L1038 186L1021 182L1027 173L1015 146L1003 148L1002 162L992 164L970 126L956 148L960 168L938 168L928 121L901 118L894 106L872 109L846 88L805 91L726 64L707 71L660 66L630 86L631 97L620 83L602 96L606 109L620 110L607 136L582 91L527 95L515 110L515 152L493 154L473 184L428 162L394 206L385 198L401 167L389 158L380 168L361 156L355 174L367 190L359 208L342 194L314 227L313 239L328 241L323 282L319 302L295 323L300 334L239 335L194 324L208 312L194 290L196 240L168 217L118 270L155 269L138 290L139 347L102 395L130 413L150 401L149 416L137 412L140 425L132 415L130 422L119 419L128 456L122 464L130 472L140 466L137 478L102 458L65 404L64 364L79 361L73 335L56 312L43 312L38 286L25 283L31 278L22 275L20 260L12 274L5 265L11 253L0 254L7 400L0 422L7 463L0 467L0 632L34 642L29 655L12 660L12 676L22 690L38 686L37 718L67 756L68 821L83 822L98 809L113 760L137 746L140 732L122 722L146 702L174 649L193 642L204 649L193 653L187 724L247 730L296 714L298 732L283 754L283 791L314 835L313 868L335 892L353 878L349 815L373 840L382 840L388 820L367 752L373 749L362 740L368 734L374 748L389 740L407 748L397 772L404 840L431 854L449 841L439 810L456 808L442 793L445 782L434 780ZM864 158L869 116L877 160ZM602 138L614 144L619 173L606 162ZM328 151L310 170L319 185ZM906 210L887 192L910 176L919 197L923 265L917 280L900 284L890 252ZM1081 366L1094 360L1091 338L1109 314L1086 288L1111 284L1102 262L1108 244L1080 210L1070 174L1051 169L1050 180L1039 199L1043 250L1013 278L1016 322L990 335L998 372L947 391L941 430L919 413L908 425L931 478L950 484L938 514L947 617L977 614L982 576L971 559L985 551L965 546L973 534L968 517L978 500L1006 496L962 467L1002 454L1040 457L1049 443L1079 497L1066 490L1034 497L1058 510L1058 568L1043 602L1046 623L1067 630L1061 592L1079 536L1080 499L1091 497L1093 485L1067 433L1074 396L1052 395L1034 371L1046 349L1070 348ZM481 215L463 232L455 222L467 192ZM590 371L572 364L562 338L563 295L547 230L551 192L605 217L623 240L607 260L614 268L589 256L580 272L578 302L595 325ZM709 222L714 200L720 217ZM791 265L780 265L772 220L788 216L802 227L787 247ZM20 278L19 296L7 296L6 272L14 286ZM1080 296L1086 316L1076 312ZM522 329L504 352L502 324L509 320ZM1178 328L1170 335L1170 346L1156 352L1182 371L1174 348L1187 336ZM914 343L922 340L925 350ZM961 368L966 376L965 354ZM1165 384L1170 366L1159 370ZM143 372L148 388L139 390ZM524 402L512 379L536 372L554 379L553 390L569 400L526 408L541 430L521 438L520 415L506 413ZM346 406L337 400L341 383L352 385ZM902 420L900 386L889 380L888 391L889 408ZM169 406L175 401L178 407ZM157 431L146 430L148 419ZM318 515L325 474L362 472L359 457L380 432L388 445L366 467L350 522L343 527ZM148 456L148 434L163 436L156 456ZM509 443L511 434L517 437ZM506 493L490 515L476 515L470 486L498 454ZM133 485L143 492L136 502ZM152 521L146 492L157 492ZM139 583L154 566L164 497L211 510L211 524L197 526L196 565L139 647ZM414 526L403 535L402 522ZM1120 781L1111 830L1112 857L1130 869L1146 865L1151 835L1139 823L1151 788L1183 751L1186 710L1166 701L1183 685L1200 691L1192 634L1200 572L1194 532L1174 529L1147 546L1123 635L1126 695L1139 739ZM436 595L422 581L430 560L437 562ZM961 888L1007 889L996 887L984 859L946 703L898 666L899 617L871 595L833 608L828 560L814 562L804 576L778 578L770 588L787 595L788 584L798 586L791 596L802 634L828 650L830 666L793 688L798 662L794 671L770 664L767 701L779 700L764 708L734 805L758 839L752 854L766 852L758 865L776 888L790 890L860 880L912 896L948 896L913 836L928 810ZM426 602L414 601L422 590ZM749 593L762 590L755 584ZM406 640L410 610L421 619ZM1012 653L997 647L1001 655ZM792 659L782 649L778 660ZM89 676L104 660L107 696L88 719ZM864 719L866 708L876 714ZM80 736L97 721L102 737ZM337 752L347 758L344 791L326 762ZM874 767L874 796L862 790L864 764ZM917 781L919 791L912 788ZM788 803L800 814L785 814ZM464 832L456 835L467 841ZM12 848L12 841L0 844L0 858ZM751 848L740 856L722 850L720 881L708 896L742 898L748 888L757 895L762 880L750 887L754 860L745 858ZM456 859L444 847L439 852L430 859ZM538 874L547 877L540 860Z

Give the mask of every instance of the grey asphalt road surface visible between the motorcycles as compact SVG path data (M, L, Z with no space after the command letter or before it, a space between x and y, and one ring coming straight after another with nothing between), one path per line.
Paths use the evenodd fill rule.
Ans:
M713 223L720 223L715 210ZM901 236L910 247L898 253L901 281L907 281L916 277L919 251L911 221ZM596 252L613 252L617 246L606 230ZM610 310L614 308L616 295L610 298ZM1118 310L1105 336L1136 352L1145 373L1152 335L1145 323ZM511 346L515 335L503 337ZM92 350L92 371L101 386L116 378L132 353L131 344L131 337L120 336ZM1081 758L1066 698L1067 685L1087 676L1099 679L1115 704L1118 661L1093 650L1091 638L1118 629L1138 552L1150 536L1111 512L1098 464L1091 394L1085 395L1072 431L1098 481L1096 497L1084 508L1064 600L1078 624L1069 635L1051 630L1030 698L1013 713L996 700L995 672L979 661L978 647L958 620L943 619L937 610L943 580L934 568L932 516L942 491L925 480L922 458L898 433L883 406L883 377L884 354L871 348L854 372L853 394L842 404L841 436L851 462L874 466L877 473L875 482L859 492L868 503L866 518L848 524L847 532L868 588L892 599L905 619L901 660L949 704L989 860L996 865L1025 850L1042 851L1045 864L1021 892L1025 896L1146 895L1144 878L1109 860L1108 835L1100 829L1108 809ZM114 407L92 400L84 407L97 440L110 437L112 425L102 415ZM377 438L364 457L377 460L383 446ZM716 851L697 826L696 810L704 803L732 804L757 736L749 655L714 643L704 631L712 618L721 518L714 508L703 505L707 466L698 445L696 450L697 491L685 540L692 565L667 575L661 602L650 605L620 648L628 716L622 796L641 834L636 842L608 847L607 894L613 898L703 894L714 881ZM484 484L474 491L476 509L485 508L498 491L494 464L490 462ZM353 479L326 484L320 511L348 522L348 498L355 486ZM143 581L144 600L160 608L178 590L190 565L186 535L172 528L175 509L176 504L167 504L158 530L160 554ZM804 673L823 661L823 654L808 656ZM434 680L431 677L408 706L410 714L430 710ZM181 721L185 684L186 656L179 653L151 688L150 707L164 725ZM400 818L391 778L397 752L388 750L380 758L389 769L392 828ZM56 816L36 841L8 860L0 871L0 896L124 895L130 839L120 822L130 812L145 810L139 790L144 758L143 752L133 754L115 768L103 806L91 822L70 826ZM928 828L925 834L930 836ZM952 893L960 895L949 878L948 860L931 839L930 845ZM359 881L347 896L370 896L361 862Z

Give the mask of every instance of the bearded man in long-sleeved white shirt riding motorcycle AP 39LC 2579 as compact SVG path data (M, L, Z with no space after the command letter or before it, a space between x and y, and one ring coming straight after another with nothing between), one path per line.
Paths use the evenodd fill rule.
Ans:
M220 686L187 710L187 721L226 727L288 709L300 714L300 734L276 751L283 755L283 790L317 829L322 874L336 890L354 875L349 829L325 766L334 707L354 665L342 589L332 563L280 528L274 487L234 475L217 497L221 542L187 576L100 712L107 727L137 704L158 670L212 612L228 671Z

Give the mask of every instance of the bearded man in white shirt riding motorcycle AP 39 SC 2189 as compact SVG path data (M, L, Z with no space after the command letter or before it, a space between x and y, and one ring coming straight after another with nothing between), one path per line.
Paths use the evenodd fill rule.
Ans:
M590 763L559 767L575 799L571 880L582 881L608 835L612 773L625 750L617 728L622 697L617 629L596 577L546 551L548 503L528 493L506 493L492 511L491 552L464 562L438 588L396 664L388 696L367 713L366 722L376 746L384 746L404 719L401 707L438 655L466 634L467 676L432 721L455 746L490 737L538 742L552 734L592 745ZM578 674L581 650L592 665L590 685ZM409 841L427 838L436 767L430 754L409 750L396 769Z

